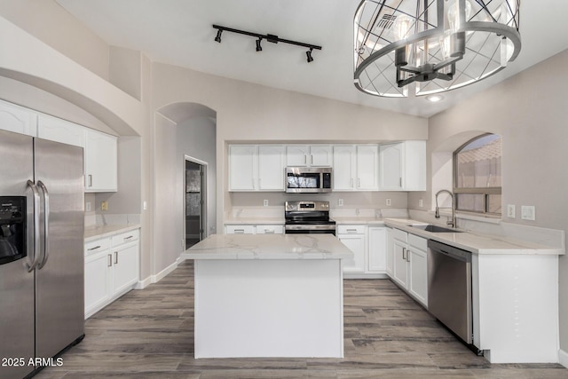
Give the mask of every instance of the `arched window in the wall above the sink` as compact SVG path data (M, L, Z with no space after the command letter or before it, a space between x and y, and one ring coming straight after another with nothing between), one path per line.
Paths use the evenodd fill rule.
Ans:
M455 209L501 216L501 136L484 134L454 152Z

